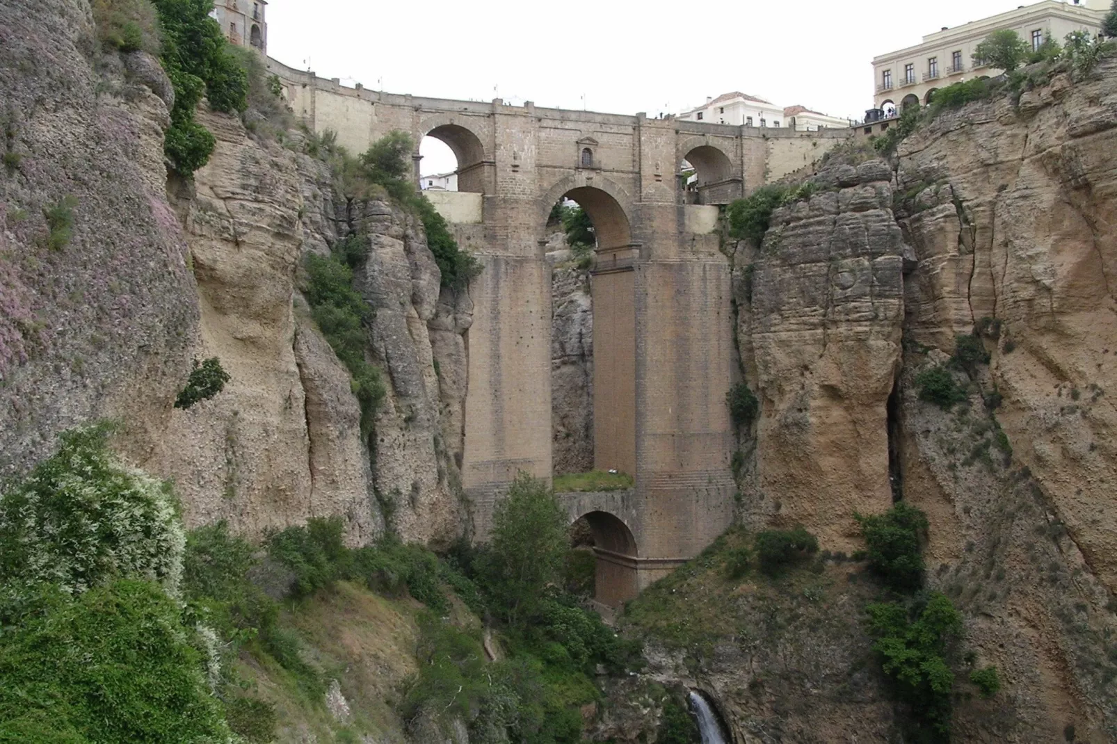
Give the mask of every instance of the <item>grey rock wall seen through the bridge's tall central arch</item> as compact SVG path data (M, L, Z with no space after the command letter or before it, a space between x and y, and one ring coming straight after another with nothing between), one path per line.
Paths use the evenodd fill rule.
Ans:
M547 244L551 264L551 427L555 475L593 469L593 301L590 275L565 236Z

